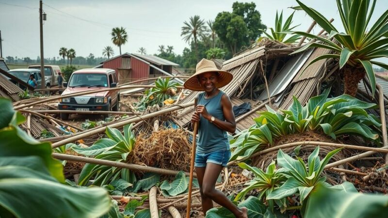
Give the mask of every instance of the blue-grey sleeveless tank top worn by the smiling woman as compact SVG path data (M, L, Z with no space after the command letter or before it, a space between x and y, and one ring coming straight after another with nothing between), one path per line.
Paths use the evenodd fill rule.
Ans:
M197 105L204 105L211 116L225 121L224 112L221 108L221 97L224 94L225 93L220 90L215 96L206 99L205 92L199 93ZM230 148L226 131L218 128L216 125L200 116L196 149L198 153L228 151Z

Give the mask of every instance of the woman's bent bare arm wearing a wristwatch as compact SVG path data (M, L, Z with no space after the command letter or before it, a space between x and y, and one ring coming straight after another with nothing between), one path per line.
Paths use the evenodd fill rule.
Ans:
M232 102L226 94L221 97L221 108L226 121L215 118L213 124L222 130L234 133L236 131L236 119L232 109ZM205 119L210 121L211 114L208 113L204 106L198 106L196 112L202 114Z

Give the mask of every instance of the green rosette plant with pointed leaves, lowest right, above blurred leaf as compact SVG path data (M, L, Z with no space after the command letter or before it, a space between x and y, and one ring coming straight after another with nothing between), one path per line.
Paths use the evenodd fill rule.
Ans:
M303 202L311 190L318 184L326 181L321 177L324 167L329 160L342 148L329 152L322 160L319 158L319 146L308 156L307 165L298 157L297 160L285 154L282 150L277 153L277 164L285 169L287 181L279 188L267 195L269 199L283 199L299 192L300 201Z

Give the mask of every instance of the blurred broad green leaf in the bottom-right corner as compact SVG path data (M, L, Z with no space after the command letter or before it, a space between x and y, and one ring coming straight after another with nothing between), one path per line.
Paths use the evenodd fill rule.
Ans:
M364 217L385 218L388 214L388 196L344 192L323 185L310 193L304 212L305 218Z

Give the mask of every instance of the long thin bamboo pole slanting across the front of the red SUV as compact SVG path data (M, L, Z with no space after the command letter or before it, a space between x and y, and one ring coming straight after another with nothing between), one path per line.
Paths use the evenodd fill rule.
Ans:
M18 110L18 109L22 109L22 108L28 108L30 106L46 103L46 102L49 102L49 101L54 101L54 100L58 100L58 99L61 99L61 98L66 98L66 97L80 96L80 95L83 95L83 94L93 94L93 93L100 93L100 92L106 92L106 91L115 91L115 90L122 90L122 89L154 88L154 87L156 87L156 86L155 85L128 85L128 86L120 86L120 87L114 87L114 88L109 88L109 89L94 89L94 90L90 90L90 91L65 94L65 95L56 96L56 97L49 97L49 98L45 98L45 99L40 100L40 101L32 102L32 103L25 104L25 105L16 106L16 107L14 107L14 109ZM183 86L177 86L177 88L183 88Z

